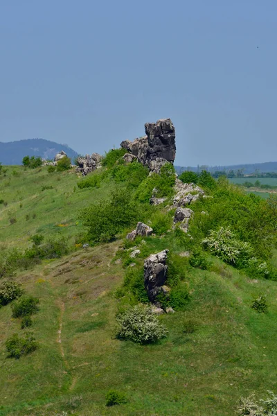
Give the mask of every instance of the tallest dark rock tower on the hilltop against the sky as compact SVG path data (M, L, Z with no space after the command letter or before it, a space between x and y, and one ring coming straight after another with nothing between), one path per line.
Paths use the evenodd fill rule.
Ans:
M145 123L146 136L134 141L125 140L120 146L132 153L150 171L159 173L163 164L175 160L175 127L170 119Z

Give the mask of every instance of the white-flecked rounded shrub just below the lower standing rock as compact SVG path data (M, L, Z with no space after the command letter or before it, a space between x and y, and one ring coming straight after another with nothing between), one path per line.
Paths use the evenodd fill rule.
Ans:
M137 305L119 313L116 317L118 323L117 336L123 340L134 343L148 344L168 335L168 331L148 306Z

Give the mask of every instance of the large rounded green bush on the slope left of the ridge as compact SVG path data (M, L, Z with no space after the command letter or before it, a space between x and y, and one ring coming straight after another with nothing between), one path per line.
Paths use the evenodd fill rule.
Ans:
M92 243L111 241L118 232L135 223L138 211L129 192L119 189L110 200L102 200L82 210L80 220L87 228L87 239Z

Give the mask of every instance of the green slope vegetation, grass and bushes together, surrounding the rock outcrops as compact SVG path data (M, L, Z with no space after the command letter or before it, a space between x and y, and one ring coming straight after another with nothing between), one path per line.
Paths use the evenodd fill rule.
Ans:
M46 243L62 238L70 250L62 259L42 257L12 270L24 298L39 299L39 311L31 329L21 329L20 318L12 318L19 301L0 309L0 415L222 416L235 413L241 396L276 391L276 200L205 175L212 198L191 205L195 214L184 234L171 229L170 171L161 181L138 165L114 161L84 179L44 167L17 166L0 175L0 197L8 202L0 205L2 259L12 248L23 257L31 250L37 259ZM158 207L145 197L153 184L168 197ZM137 220L156 235L127 241ZM232 244L251 248L246 262L226 260L202 243L220 227L231 228ZM141 252L132 259L134 246ZM158 318L168 337L149 345L119 340L116 317L148 304L145 257L168 248L171 291L161 303L176 312ZM257 273L252 258L266 262L269 274ZM262 304L267 308L257 313ZM7 358L14 333L39 348ZM119 405L106 406L117 399Z

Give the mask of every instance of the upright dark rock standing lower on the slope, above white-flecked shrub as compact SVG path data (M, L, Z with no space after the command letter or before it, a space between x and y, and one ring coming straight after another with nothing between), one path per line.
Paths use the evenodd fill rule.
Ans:
M167 258L168 250L163 250L157 254L151 254L144 261L144 286L151 302L155 301L165 284L168 270L168 266L166 266Z

